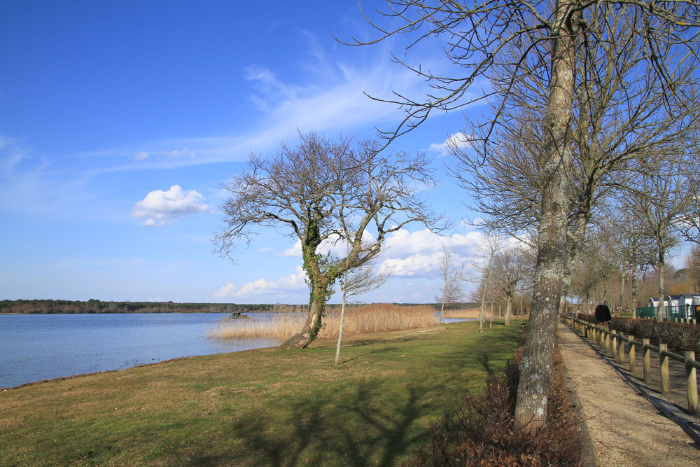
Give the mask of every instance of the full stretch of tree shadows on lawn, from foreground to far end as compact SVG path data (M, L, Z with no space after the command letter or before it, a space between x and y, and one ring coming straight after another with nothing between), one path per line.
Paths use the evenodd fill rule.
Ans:
M391 347L397 350L398 345ZM424 364L444 371L425 377L417 370L414 379L405 386L395 382L391 387L385 386L381 377L338 379L320 390L289 400L281 410L281 418L275 419L274 407L266 407L262 410L265 413L241 413L240 421L222 433L221 442L228 440L242 445L244 450L237 451L242 457L202 455L193 457L192 463L201 466L396 465L412 449L430 439L429 420L449 410L440 404L437 395L454 394L458 399L469 387L470 374L482 370L488 375L498 372L505 363L503 351L498 350L503 345L503 335L486 334L479 337L478 345L472 341L444 353L414 354L416 359L430 358ZM372 349L351 359L383 350L386 351ZM270 421L265 419L266 415Z

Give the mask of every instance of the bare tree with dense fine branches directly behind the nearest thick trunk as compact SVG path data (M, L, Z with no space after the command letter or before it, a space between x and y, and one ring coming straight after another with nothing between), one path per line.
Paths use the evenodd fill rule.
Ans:
M694 102L670 108L664 98L666 85L694 95L691 69L679 71L669 83L652 70L640 73L645 62L643 37L626 25L626 12L591 14L587 27L614 35L615 40L575 46L575 94L571 132L573 165L568 205L568 256L564 265L560 305L570 287L570 264L575 263L586 230L600 205L610 195L633 183L633 174L645 167L651 153L664 153L678 141L692 140L700 115ZM513 60L522 50L536 47L524 42L511 47ZM538 194L542 179L542 122L548 90L543 83L548 70L527 69L540 76L513 83L508 67L493 80L494 88L508 90L507 105L494 108L502 118L493 127L472 124L468 139L484 144L453 144L457 164L449 172L472 193L469 207L482 214L482 222L505 235L523 239L539 223ZM498 102L496 103L498 104ZM496 105L493 104L493 105ZM486 133L488 133L488 138ZM623 282L624 283L624 282Z

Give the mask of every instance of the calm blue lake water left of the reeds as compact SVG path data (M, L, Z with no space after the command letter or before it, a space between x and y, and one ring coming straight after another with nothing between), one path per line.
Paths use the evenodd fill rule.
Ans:
M227 314L0 314L0 387L279 344L207 339Z

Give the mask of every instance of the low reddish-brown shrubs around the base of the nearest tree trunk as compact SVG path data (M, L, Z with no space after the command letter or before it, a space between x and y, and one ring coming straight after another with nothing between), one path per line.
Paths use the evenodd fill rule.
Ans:
M504 376L486 379L483 394L468 394L462 408L433 426L433 440L407 461L414 466L578 466L579 420L569 410L563 363L555 349L547 423L532 433L514 428L522 349Z

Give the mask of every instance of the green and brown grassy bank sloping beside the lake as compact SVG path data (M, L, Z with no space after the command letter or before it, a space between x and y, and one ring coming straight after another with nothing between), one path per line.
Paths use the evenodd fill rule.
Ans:
M519 326L456 323L186 358L0 393L0 465L395 465L505 367Z

